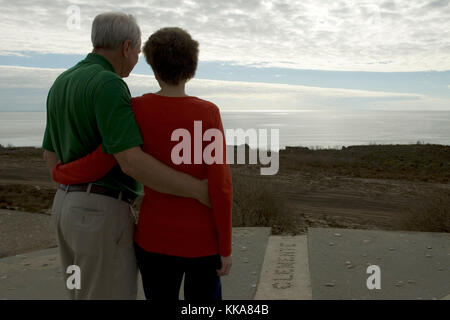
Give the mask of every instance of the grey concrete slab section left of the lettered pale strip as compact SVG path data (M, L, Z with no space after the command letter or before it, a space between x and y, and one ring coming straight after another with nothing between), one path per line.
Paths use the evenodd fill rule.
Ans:
M224 299L253 299L269 235L270 228L233 228L233 267L222 277ZM67 299L64 285L57 248L0 259L0 299ZM138 299L144 299L140 280Z

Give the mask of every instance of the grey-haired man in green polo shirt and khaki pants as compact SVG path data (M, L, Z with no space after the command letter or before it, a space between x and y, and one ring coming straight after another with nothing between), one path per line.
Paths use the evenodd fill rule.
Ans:
M53 217L64 274L72 265L81 271L81 288L68 288L72 299L136 299L130 203L141 192L138 182L206 205L208 185L141 149L130 92L121 79L140 53L141 31L133 16L98 15L91 39L92 53L62 73L49 91L44 158L51 171L58 161L76 160L102 144L119 165L93 183L60 185Z

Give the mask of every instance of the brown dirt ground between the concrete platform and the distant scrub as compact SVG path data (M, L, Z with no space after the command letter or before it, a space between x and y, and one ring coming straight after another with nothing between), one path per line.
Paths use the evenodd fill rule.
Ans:
M445 152L448 154L447 149ZM327 162L323 155L317 158L319 161L312 159L310 153L308 156L301 153L300 149L298 152L282 151L280 171L274 176L261 176L258 166L233 165L236 201L234 226L270 224L275 233L287 230L297 234L305 232L310 226L404 230L405 215L416 203L422 202L424 195L450 193L450 183L441 179L443 174L435 175L436 170L429 171L431 173L427 176L423 170L420 174L408 171L408 175L396 175L395 179L388 179L386 177L389 175L386 174L381 175L383 178L376 178L376 174L370 173L373 170L364 166L364 170L369 173L355 176L354 172L361 172L360 169L357 170L355 161L346 160L345 165L336 166L335 163L338 162L333 157L329 157L330 161ZM446 157L439 167L442 168L444 163L442 172L447 179L445 166L449 160ZM390 168L380 169L377 165L376 171L380 170L390 172ZM404 172L403 169L399 171ZM416 176L422 178L415 179ZM252 188L254 190L249 191ZM264 188L268 188L269 196L260 193ZM4 214L0 219L0 244L3 243L0 245L0 257L55 245L54 235L48 231L55 190L56 184L49 177L41 149L0 148L0 209L48 216L33 220L34 224L38 224L34 230L42 231L27 238L22 237L21 233L30 229L29 218L22 214ZM260 200L258 196L263 199ZM278 217L274 220L263 219L265 222L261 222L261 219L252 222L248 217L245 220L243 216L257 202L266 207L266 210L279 210ZM277 221L280 221L281 226L276 225ZM283 223L289 228L283 227ZM6 241L11 237L24 240L17 248L5 248L11 246Z

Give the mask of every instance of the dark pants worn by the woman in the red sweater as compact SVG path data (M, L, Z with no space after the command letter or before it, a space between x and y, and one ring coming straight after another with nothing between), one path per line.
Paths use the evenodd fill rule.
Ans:
M143 250L134 244L145 297L148 300L179 300L184 274L184 299L222 300L222 286L216 269L220 256L184 258Z

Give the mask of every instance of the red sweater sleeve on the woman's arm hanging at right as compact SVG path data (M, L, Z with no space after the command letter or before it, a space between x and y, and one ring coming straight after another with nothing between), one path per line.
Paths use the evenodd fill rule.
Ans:
M231 254L233 187L230 167L226 163L227 145L225 134L217 107L214 108L212 127L219 129L222 133L223 161L221 164L213 163L208 165L208 191L219 236L219 253L221 256L227 257Z

